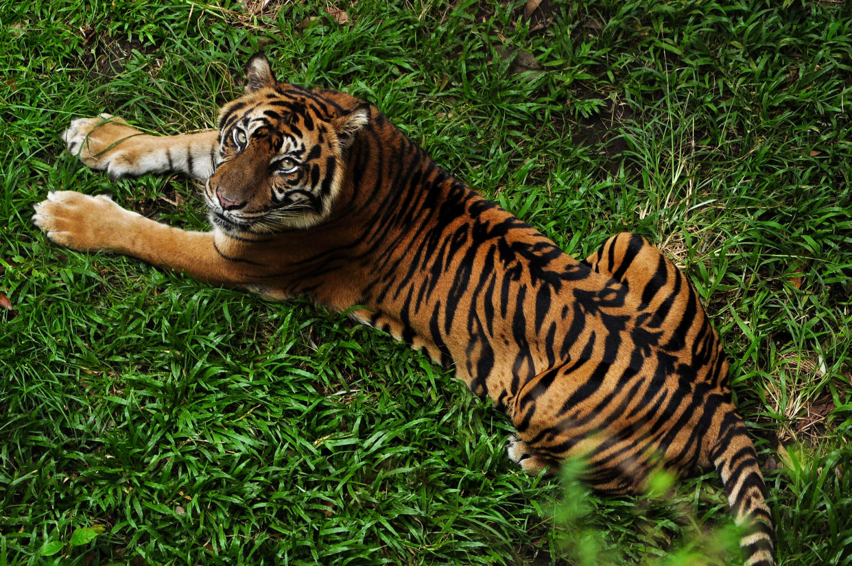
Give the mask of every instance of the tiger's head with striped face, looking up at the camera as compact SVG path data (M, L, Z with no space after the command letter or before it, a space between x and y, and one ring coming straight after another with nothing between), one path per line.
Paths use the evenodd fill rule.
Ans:
M348 148L370 105L337 92L278 83L267 58L245 67L245 94L222 107L216 170L205 184L210 220L227 233L309 228L331 214Z

